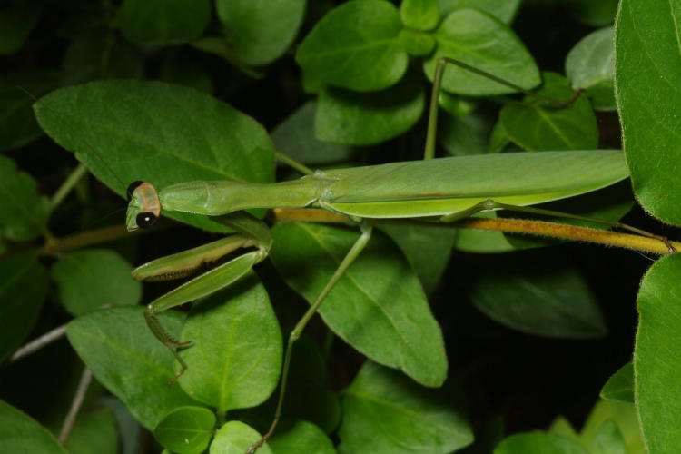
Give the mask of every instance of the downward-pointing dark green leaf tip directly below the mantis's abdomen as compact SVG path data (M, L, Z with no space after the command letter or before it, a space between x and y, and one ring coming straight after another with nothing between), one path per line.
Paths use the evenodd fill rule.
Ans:
M449 262L457 231L449 227L419 227L417 225L380 225L393 242L400 246L407 261L419 276L426 294L438 285Z

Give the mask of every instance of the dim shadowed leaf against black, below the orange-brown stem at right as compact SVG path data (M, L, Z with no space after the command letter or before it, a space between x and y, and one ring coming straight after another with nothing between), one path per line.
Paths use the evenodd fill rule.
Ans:
M551 264L533 253L510 267L479 276L469 297L479 311L511 329L536 336L600 338L606 323L596 298L576 270ZM545 262L537 267L538 262ZM508 269L511 268L511 269Z

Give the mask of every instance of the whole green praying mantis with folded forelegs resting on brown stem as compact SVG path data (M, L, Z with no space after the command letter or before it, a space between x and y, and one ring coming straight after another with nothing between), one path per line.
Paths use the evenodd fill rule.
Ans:
M439 64L439 75L447 59ZM437 107L439 77L433 85L432 104ZM431 105L432 105L431 104ZM553 106L552 108L560 108ZM434 149L437 109L429 117L426 155ZM495 184L498 172L507 173L504 184ZM280 396L270 429L251 446L255 452L270 438L279 419L293 344L311 317L321 307L334 285L350 269L370 242L374 226L384 222L415 222L422 225L448 224L482 211L501 209L556 214L531 208L596 191L627 178L627 166L619 151L501 153L489 156L425 159L352 169L317 171L301 179L281 183L197 181L172 184L157 190L151 183L135 182L128 187L130 202L126 215L129 231L149 228L162 212L189 212L210 217L236 233L189 251L148 262L133 271L141 281L183 277L227 254L245 250L210 271L185 282L150 302L144 318L153 335L173 352L180 364L172 381L187 368L179 350L191 348L191 341L179 341L157 319L160 312L199 300L239 281L254 265L265 260L275 248L267 224L244 210L256 208L319 208L360 228L360 236L333 272L310 308L289 336L281 372ZM493 188L493 189L490 189ZM617 222L610 225L637 229ZM668 251L674 246L652 236Z

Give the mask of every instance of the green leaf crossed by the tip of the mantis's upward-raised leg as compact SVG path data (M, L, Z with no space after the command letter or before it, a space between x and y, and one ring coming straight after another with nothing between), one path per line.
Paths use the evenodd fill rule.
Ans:
M537 94L568 101L573 91L558 74L544 74ZM591 104L579 96L569 107L548 106L531 96L522 104L506 104L499 122L511 141L529 151L592 150L598 147L598 128Z

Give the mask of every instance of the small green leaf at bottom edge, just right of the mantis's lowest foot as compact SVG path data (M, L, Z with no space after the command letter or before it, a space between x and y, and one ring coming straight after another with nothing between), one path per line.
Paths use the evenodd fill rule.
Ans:
M269 441L274 454L335 454L331 439L311 422L300 420L291 429L276 432Z

